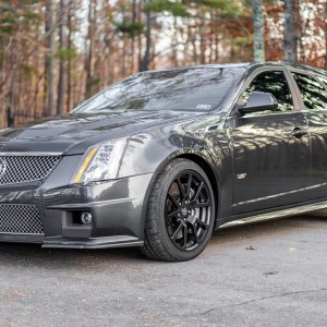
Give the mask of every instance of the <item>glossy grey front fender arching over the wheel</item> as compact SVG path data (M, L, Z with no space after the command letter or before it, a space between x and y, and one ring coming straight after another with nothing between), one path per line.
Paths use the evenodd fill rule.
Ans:
M179 131L181 132L181 131ZM178 129L162 128L147 131L129 140L125 154L121 161L119 178L152 173L145 203L143 206L142 229L146 215L146 204L153 185L164 167L177 157L197 159L205 162L211 170L217 184L219 206L218 217L226 216L226 208L231 203L231 156L227 133L222 130L216 133L202 131L178 133ZM196 133L197 132L197 133ZM198 164L198 162L197 162ZM220 192L221 191L221 192ZM142 231L141 231L142 233Z

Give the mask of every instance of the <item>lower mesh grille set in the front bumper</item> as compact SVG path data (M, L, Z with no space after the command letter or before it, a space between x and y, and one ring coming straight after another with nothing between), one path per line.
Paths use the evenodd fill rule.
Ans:
M39 211L34 205L0 205L0 233L43 234Z

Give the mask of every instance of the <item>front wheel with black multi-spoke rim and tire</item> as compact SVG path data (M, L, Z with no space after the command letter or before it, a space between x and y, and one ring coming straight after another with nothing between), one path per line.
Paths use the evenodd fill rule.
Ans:
M215 225L215 201L204 170L173 159L157 177L149 196L142 253L150 259L190 261L206 247Z

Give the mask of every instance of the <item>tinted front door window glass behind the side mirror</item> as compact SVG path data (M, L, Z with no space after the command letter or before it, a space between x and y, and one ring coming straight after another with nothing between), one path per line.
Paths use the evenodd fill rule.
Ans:
M272 94L278 101L278 108L274 111L280 112L294 109L288 81L281 71L270 71L258 74L245 89L238 104L245 105L253 92Z

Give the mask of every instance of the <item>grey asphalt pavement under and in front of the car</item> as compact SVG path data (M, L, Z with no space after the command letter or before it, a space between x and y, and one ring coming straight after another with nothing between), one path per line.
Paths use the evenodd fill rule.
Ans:
M0 326L327 326L327 218L218 231L187 263L0 244Z

